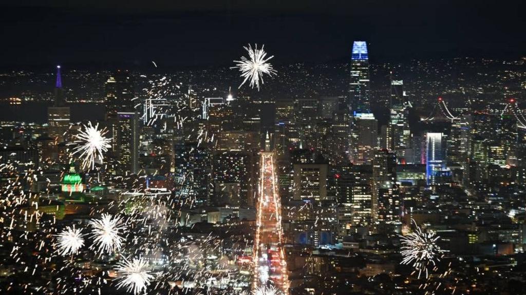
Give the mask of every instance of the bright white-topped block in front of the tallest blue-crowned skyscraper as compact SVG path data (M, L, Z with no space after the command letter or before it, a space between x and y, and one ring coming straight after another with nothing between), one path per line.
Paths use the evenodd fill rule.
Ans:
M371 164L378 145L378 120L372 113L354 113L350 137L350 158L353 164Z

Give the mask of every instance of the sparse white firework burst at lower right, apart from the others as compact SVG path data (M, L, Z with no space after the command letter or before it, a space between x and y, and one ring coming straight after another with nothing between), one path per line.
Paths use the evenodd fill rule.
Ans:
M416 222L413 223L416 231L407 235L401 236L401 252L403 259L401 264L412 264L414 269L418 271L418 278L422 272L426 273L426 278L429 277L429 267L435 266L436 261L440 261L440 255L443 250L437 245L437 240L440 238L434 233L422 233L422 230Z

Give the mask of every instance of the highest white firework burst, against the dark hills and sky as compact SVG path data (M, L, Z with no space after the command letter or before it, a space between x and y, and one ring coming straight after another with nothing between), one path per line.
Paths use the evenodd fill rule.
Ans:
M250 44L248 47L243 47L248 51L248 58L242 56L241 60L234 60L237 63L237 66L231 67L231 69L239 69L241 72L241 78L245 78L239 88L245 84L247 80L250 79L250 87L254 88L256 86L259 91L259 82L263 84L263 74L266 73L269 76L275 75L277 72L268 61L274 57L267 58L267 52L263 50L264 46L261 46L261 49L258 49L258 45L252 49Z

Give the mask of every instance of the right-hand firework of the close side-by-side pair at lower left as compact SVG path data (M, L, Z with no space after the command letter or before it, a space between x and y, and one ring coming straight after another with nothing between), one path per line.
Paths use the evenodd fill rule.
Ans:
M93 227L92 237L94 246L98 246L97 252L109 254L120 249L124 238L119 234L125 229L120 217L105 213L100 219L90 220L89 225Z

